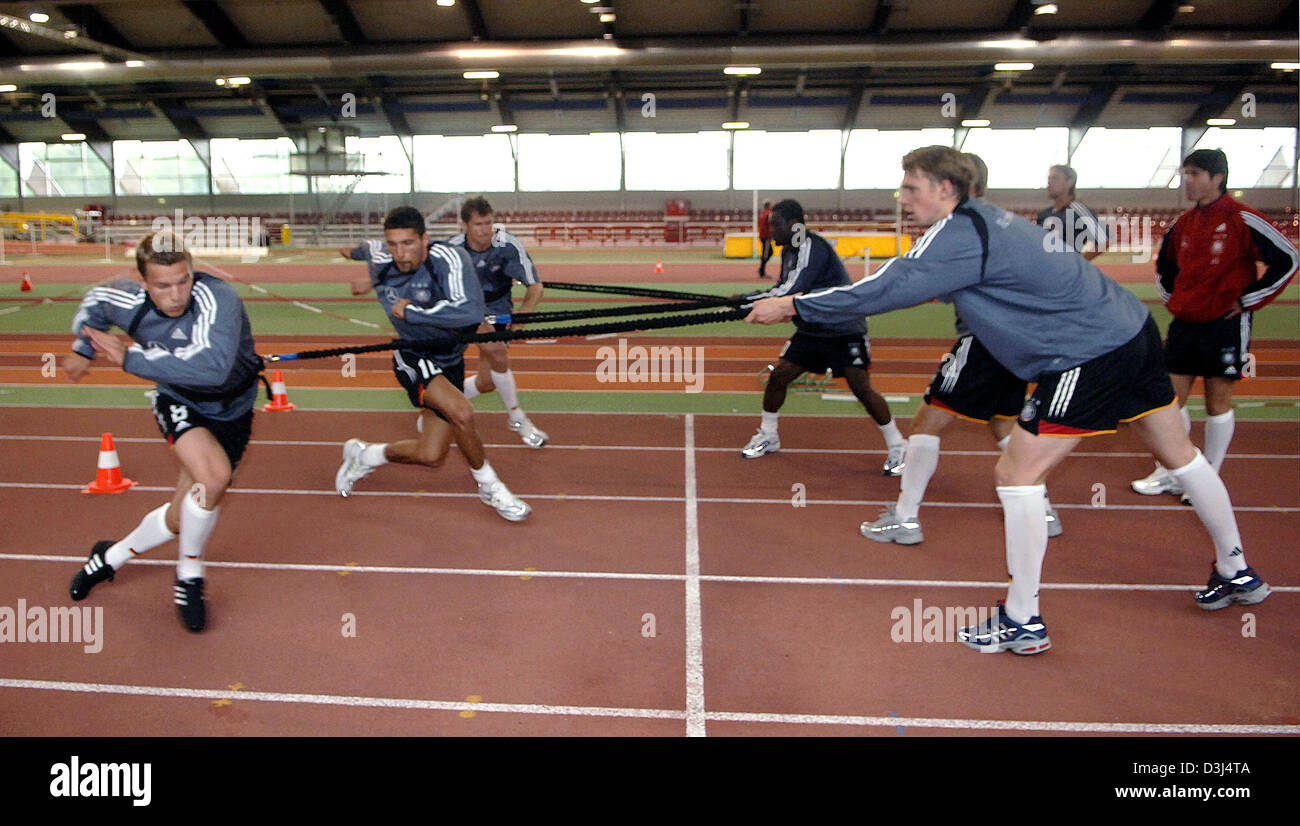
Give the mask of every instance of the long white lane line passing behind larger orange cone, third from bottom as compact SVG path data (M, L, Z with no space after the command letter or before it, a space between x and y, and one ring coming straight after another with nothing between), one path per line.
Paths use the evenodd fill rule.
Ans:
M68 483L39 483L39 481L0 481L0 489L13 488L20 490L81 490L86 486L86 483L81 484L68 484ZM138 493L174 493L174 486L168 485L135 485L131 488ZM247 493L255 496L324 496L324 497L337 497L337 490L326 489L283 489L283 488L230 488L226 494L234 493ZM354 490L351 497L384 497L391 496L398 498L438 498L438 500L473 500L478 498L477 493L458 493L451 490ZM551 500L556 502L685 502L686 498L681 496L614 496L614 494L595 494L595 493L525 493L520 494L529 500ZM1173 497L1153 497L1173 501ZM697 496L697 503L705 505L781 505L789 507L789 498L775 498L775 500L762 500L762 498L741 498L741 497L707 497ZM887 505L893 505L893 500L807 500L807 505L837 505L837 506L850 506L850 507L884 507ZM926 502L927 507L974 507L974 509L987 509L987 510L1001 510L1002 506L998 502ZM1105 507L1093 507L1092 505L1069 505L1065 502L1053 501L1052 506L1058 510L1109 510L1109 511L1176 511L1180 514L1193 513L1186 505L1106 505ZM1300 507L1283 507L1279 505L1234 505L1232 510L1235 513L1247 514L1294 514L1300 513Z

